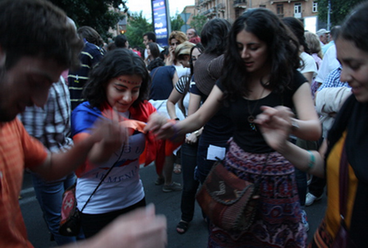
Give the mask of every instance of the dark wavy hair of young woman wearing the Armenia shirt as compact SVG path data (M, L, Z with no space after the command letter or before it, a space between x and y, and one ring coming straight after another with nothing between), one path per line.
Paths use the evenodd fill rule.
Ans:
M113 49L106 53L101 61L90 71L89 80L83 88L83 98L91 107L100 108L106 101L106 86L110 79L122 75L139 75L142 77L140 93L132 104L137 107L147 99L150 81L146 65L141 57L125 48Z

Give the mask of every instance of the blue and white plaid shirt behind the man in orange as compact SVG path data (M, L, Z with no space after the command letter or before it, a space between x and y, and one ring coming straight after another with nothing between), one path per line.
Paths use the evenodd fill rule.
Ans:
M43 108L27 107L18 115L27 132L54 153L69 150L73 145L70 116L70 94L62 77L52 84Z

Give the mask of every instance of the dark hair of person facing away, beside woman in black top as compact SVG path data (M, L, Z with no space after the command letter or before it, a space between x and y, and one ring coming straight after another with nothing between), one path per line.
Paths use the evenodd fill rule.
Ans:
M223 54L227 46L227 35L230 29L231 24L225 19L215 18L206 22L201 32L203 53L218 56Z

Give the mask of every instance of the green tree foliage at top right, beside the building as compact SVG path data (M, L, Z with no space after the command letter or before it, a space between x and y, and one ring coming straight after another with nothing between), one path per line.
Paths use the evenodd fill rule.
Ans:
M364 2L365 0L330 0L331 2L331 13L330 21L331 26L340 25L344 18L349 14L351 9L354 8L358 3ZM318 18L323 21L327 21L328 14L328 0L318 1Z

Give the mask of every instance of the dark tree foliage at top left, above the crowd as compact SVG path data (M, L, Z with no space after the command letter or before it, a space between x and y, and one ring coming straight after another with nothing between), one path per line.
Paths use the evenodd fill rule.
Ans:
M50 0L72 18L77 27L89 26L94 28L104 40L111 37L109 28L116 29L116 24L124 18L119 12L109 10L109 6L119 8L126 0Z

